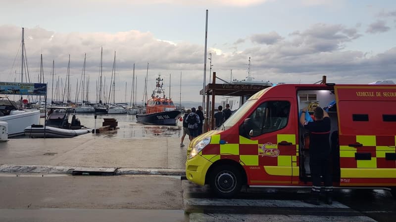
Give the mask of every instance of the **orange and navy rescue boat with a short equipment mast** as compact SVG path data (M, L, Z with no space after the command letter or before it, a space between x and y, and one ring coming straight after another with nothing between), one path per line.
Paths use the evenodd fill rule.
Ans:
M143 124L176 126L182 112L176 110L171 98L165 97L163 79L160 76L156 78L156 87L152 91L151 99L147 101L146 114L137 114L136 119Z

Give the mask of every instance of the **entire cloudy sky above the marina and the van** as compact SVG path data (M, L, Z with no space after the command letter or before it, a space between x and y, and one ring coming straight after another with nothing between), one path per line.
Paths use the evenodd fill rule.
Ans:
M43 54L46 82L65 81L68 55L72 94L81 78L84 53L90 100L96 100L100 47L109 83L116 51L117 102L130 100L132 66L142 100L155 77L176 103L201 101L205 10L209 10L208 55L212 71L229 80L247 76L251 57L255 80L313 83L396 82L394 0L13 0L0 8L0 81L20 81L21 28L30 77L37 82ZM209 60L207 61L209 68ZM209 69L207 69L207 81ZM218 80L220 82L220 80ZM55 83L54 83L55 84ZM51 91L49 89L49 95ZM73 97L73 96L72 96Z

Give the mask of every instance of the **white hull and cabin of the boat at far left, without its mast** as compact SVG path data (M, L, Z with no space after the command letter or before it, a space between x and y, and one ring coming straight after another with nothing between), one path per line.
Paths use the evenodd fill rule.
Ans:
M20 110L7 96L0 96L0 121L8 123L8 137L20 136L26 127L40 124L40 111Z

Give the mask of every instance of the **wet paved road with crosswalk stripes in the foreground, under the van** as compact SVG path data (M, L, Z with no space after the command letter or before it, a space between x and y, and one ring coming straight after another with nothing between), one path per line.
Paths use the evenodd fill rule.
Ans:
M301 202L309 190L209 191L169 176L2 174L0 221L396 221L388 191L337 190L331 206Z

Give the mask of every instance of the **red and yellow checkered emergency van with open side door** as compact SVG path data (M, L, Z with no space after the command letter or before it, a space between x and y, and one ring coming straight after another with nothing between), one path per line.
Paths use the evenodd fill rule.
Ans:
M311 186L299 111L334 103L328 111L334 186L386 188L396 197L396 85L282 84L261 90L218 130L190 143L187 179L209 184L225 198L242 185Z

